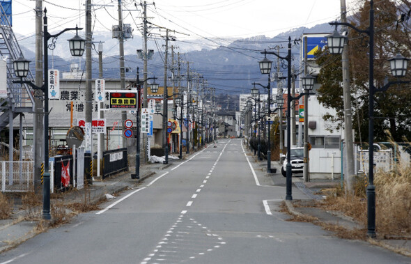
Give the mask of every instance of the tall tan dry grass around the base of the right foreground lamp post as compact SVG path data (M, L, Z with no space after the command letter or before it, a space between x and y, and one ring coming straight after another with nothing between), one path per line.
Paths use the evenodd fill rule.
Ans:
M375 222L378 238L411 238L411 166L399 162L389 173L377 171L375 185ZM354 194L337 187L326 194L319 207L341 211L366 226L366 185L368 178L356 180ZM365 231L364 231L365 233Z

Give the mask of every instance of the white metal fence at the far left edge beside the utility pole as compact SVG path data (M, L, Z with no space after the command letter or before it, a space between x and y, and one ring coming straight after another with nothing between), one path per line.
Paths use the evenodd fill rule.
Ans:
M0 161L1 192L34 190L34 162Z

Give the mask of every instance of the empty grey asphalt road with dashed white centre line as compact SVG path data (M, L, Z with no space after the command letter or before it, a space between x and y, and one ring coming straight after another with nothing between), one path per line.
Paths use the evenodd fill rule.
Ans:
M102 210L2 254L0 264L411 263L309 223L287 222L279 212L284 185L273 185L252 160L240 139L220 140ZM293 198L307 199L295 188Z

